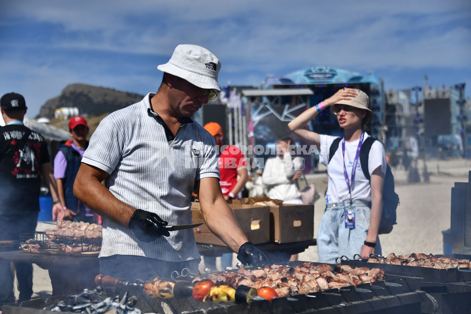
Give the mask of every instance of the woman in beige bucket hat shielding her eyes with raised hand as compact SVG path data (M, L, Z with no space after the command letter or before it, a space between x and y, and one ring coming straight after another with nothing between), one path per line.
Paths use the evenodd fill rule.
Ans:
M325 212L317 234L319 262L334 263L342 255L381 254L378 229L382 215L382 186L386 173L386 154L374 141L368 154L368 180L361 169L359 151L369 137L365 128L373 120L368 96L359 89L343 88L332 97L288 124L288 127L320 151L319 162L327 166L328 185ZM321 135L306 128L317 113L330 108L337 117L344 137ZM369 141L371 142L371 141ZM329 156L331 145L338 145ZM334 147L335 148L335 147Z

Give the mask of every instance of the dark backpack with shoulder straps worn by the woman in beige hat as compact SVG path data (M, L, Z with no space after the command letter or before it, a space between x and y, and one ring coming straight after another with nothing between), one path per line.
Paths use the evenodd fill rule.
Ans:
M342 139L337 137L333 140L332 145L329 149L329 162L331 161L333 155L339 148L340 141ZM360 165L365 175L366 179L371 180L370 174L368 172L368 158L374 141L377 141L376 138L367 137L363 142L360 150ZM379 234L386 234L392 231L392 226L396 225L396 209L399 205L399 196L394 192L394 177L391 172L391 168L387 165L386 175L384 176L384 185L382 193L383 201L383 210L381 215L380 228L378 230Z

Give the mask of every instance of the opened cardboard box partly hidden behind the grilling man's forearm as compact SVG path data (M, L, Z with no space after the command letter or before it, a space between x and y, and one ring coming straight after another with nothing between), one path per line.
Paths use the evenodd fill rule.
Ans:
M244 233L253 244L265 243L270 239L270 209L268 206L254 206L242 204L229 204L234 216L239 222L239 225ZM191 203L191 212L193 214L193 223L197 224L204 222L203 215L200 211L200 203ZM201 230L201 233L198 232ZM211 230L206 224L194 229L195 240L197 243L213 244L213 245L226 245Z

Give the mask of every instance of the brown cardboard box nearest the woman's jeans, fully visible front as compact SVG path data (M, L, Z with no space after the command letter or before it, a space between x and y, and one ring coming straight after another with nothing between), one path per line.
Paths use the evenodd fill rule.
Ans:
M270 206L270 242L301 242L313 238L314 205Z

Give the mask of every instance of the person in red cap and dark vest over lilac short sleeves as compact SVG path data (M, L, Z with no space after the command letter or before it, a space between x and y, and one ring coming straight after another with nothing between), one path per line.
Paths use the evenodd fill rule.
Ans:
M89 127L81 116L69 121L70 141L59 145L54 158L54 177L57 182L59 198L65 211L65 219L92 223L95 214L73 195L73 182L81 165L83 153L88 146Z

